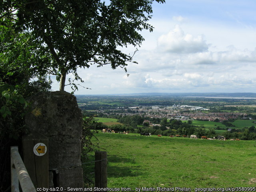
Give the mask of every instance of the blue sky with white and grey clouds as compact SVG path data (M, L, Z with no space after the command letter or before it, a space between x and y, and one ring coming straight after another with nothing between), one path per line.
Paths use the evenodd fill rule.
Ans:
M75 94L255 93L255 10L255 0L154 2L154 31L141 32L145 41L134 55L138 64L127 66L129 76L110 66L79 69L84 83L77 82ZM121 50L133 54L136 48ZM58 87L54 81L52 89Z

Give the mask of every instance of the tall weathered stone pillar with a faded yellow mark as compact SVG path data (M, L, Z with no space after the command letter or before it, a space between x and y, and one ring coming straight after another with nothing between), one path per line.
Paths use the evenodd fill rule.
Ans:
M68 92L40 92L28 99L26 127L49 139L49 187L83 187L82 113Z

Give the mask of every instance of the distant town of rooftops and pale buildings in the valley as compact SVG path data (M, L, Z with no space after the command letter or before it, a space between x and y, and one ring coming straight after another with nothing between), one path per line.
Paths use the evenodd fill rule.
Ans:
M209 98L210 99L210 98ZM207 104L212 104L214 102L208 102ZM216 103L214 103L216 105ZM92 104L88 103L80 103L80 108L86 108L86 106L90 106ZM144 117L150 118L168 118L168 119L177 119L177 120L208 120L208 121L219 121L222 122L228 119L236 119L239 116L242 118L246 117L246 112L213 112L214 107L205 108L203 106L192 106L192 105L181 105L173 104L171 106L162 106L162 105L152 105L152 106L116 106L116 105L109 105L108 107L98 107L94 111L98 114L115 114L115 115L140 115ZM256 109L256 108L255 108Z

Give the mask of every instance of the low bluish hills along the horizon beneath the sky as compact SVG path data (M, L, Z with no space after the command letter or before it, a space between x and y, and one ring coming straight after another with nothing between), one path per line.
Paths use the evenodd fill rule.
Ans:
M173 97L240 97L256 98L256 93L133 93L133 94L100 94L109 96L173 96Z

